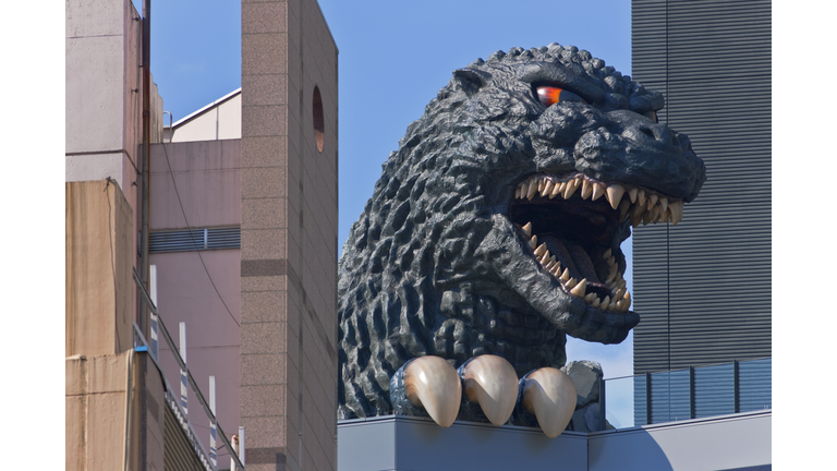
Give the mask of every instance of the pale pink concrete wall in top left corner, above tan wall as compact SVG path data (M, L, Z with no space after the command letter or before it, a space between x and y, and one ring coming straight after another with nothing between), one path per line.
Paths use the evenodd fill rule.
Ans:
M136 210L142 149L142 22L130 0L65 0L65 180L113 178ZM150 84L151 142L162 99Z

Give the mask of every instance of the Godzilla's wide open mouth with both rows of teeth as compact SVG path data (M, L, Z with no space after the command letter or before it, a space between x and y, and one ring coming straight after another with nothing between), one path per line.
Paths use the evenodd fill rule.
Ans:
M621 243L618 226L629 218L633 227L677 224L682 215L682 200L575 172L524 180L514 191L509 216L542 268L565 291L593 307L627 312L631 294L614 254Z

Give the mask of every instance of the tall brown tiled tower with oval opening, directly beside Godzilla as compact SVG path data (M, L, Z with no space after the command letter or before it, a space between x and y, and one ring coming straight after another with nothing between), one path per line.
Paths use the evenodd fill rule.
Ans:
M316 148L313 97L323 97ZM317 3L242 2L241 422L248 470L336 469L337 47Z

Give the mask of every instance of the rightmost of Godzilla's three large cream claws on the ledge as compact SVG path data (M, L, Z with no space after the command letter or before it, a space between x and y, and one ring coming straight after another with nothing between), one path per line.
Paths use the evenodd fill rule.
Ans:
M567 428L577 402L575 385L567 373L543 367L529 374L521 402L537 419L544 434L555 438Z

